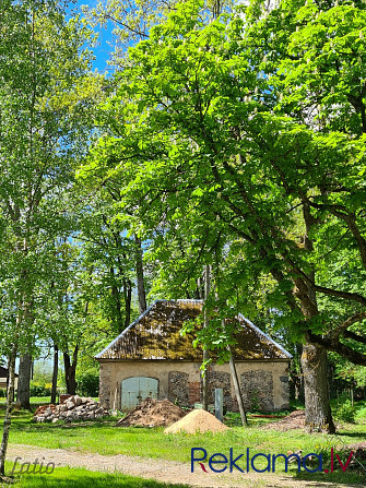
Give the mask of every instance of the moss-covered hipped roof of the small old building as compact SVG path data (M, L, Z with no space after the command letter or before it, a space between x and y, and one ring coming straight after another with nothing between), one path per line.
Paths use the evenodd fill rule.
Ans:
M193 347L194 335L180 335L184 322L196 319L202 311L202 300L156 300L96 359L170 359L202 361L202 349ZM236 360L290 359L282 346L240 313L236 318Z

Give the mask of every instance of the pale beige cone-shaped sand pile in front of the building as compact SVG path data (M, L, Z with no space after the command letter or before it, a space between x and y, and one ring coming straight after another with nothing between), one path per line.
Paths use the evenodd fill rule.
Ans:
M224 432L228 430L223 422L205 410L192 410L186 417L173 424L164 430L165 433L187 432Z

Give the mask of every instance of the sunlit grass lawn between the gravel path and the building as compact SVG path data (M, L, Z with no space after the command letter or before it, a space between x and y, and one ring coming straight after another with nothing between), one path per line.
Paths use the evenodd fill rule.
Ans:
M179 433L166 436L163 432L163 428L116 428L114 427L116 418L98 422L75 422L71 425L32 424L29 421L31 418L32 415L29 413L14 413L10 435L11 443L50 449L71 449L104 455L127 454L181 462L190 462L192 448L205 449L208 456L214 453L223 453L228 456L231 448L233 448L235 456L246 453L247 448L250 449L250 456L256 453L272 455L287 454L288 451L302 450L304 455L307 453L322 453L323 468L326 468L330 464L331 448L334 448L337 452L343 449L340 456L344 463L350 454L350 449L344 448L345 444L363 442L366 438L366 425L359 424L344 424L335 436L321 433L309 436L300 430L287 432L269 430L263 428L263 426L259 426L259 420L256 419L256 424L252 424L249 428L233 427L224 433L213 435L209 432L196 436ZM263 460L258 459L258 463L256 462L258 467L261 466L260 461ZM366 463L363 463L366 469ZM296 477L323 481L335 481L337 479L338 483L345 483L347 486L352 484L365 486L366 471L354 473L349 469L346 473L343 473L341 469L337 469L328 475L324 473L311 475L310 473L297 474L296 463L290 466L290 472ZM243 464L241 467L245 468L245 465ZM284 462L280 460L276 464L276 472L283 469ZM93 475L91 474L90 476ZM133 487L134 485L130 486Z

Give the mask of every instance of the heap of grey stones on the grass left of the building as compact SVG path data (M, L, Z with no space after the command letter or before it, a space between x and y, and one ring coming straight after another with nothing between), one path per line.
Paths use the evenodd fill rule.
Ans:
M39 406L34 414L33 421L93 420L108 414L109 412L101 407L95 400L74 395L60 405Z

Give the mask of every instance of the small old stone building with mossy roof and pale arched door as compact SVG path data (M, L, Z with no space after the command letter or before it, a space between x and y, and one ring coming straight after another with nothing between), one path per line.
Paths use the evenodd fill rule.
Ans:
M201 402L202 349L193 334L181 335L185 322L202 311L202 300L156 300L95 358L99 361L99 400L111 409L132 409L146 396L168 398L180 406ZM291 354L249 320L236 319L237 345L232 348L248 409L288 407ZM229 365L209 369L209 402L224 390L224 405L237 410Z

